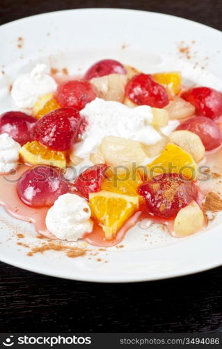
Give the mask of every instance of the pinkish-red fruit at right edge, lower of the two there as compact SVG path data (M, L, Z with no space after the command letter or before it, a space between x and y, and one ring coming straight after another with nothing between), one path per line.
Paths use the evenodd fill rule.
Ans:
M206 150L212 150L221 145L222 137L219 127L208 117L191 117L177 127L177 130L188 130L196 133L202 140Z

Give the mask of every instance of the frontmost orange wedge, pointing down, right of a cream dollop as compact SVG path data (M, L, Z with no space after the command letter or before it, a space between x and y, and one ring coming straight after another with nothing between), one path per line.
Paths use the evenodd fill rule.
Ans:
M127 219L138 210L138 196L100 191L89 194L93 216L104 230L105 239L113 239Z

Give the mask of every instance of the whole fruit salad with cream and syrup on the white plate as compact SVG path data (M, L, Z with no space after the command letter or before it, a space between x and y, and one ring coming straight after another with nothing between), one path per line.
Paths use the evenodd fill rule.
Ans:
M15 110L0 117L0 204L40 235L96 246L144 219L175 238L204 230L220 194L209 174L221 168L222 93L183 81L113 59L78 78L45 64L17 77Z

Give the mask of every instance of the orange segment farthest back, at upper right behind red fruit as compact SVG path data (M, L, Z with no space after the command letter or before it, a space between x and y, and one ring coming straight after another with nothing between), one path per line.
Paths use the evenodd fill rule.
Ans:
M179 94L181 89L181 74L177 71L171 71L168 73L156 73L152 75L154 80L159 84L164 85L168 89L171 96Z

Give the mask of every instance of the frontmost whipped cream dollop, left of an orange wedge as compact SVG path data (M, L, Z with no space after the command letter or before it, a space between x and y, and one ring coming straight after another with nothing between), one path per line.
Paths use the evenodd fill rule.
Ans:
M93 230L90 220L91 211L88 202L76 194L64 194L58 197L47 212L45 223L49 232L58 239L77 241L86 232Z

